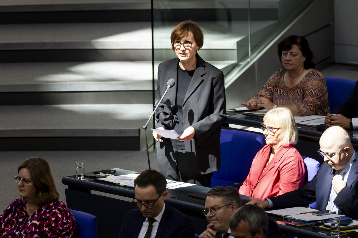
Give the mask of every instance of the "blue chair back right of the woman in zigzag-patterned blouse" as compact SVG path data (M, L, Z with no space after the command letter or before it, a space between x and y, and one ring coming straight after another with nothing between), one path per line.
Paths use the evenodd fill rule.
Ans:
M333 112L333 110L341 105L353 91L355 81L333 77L325 77L325 80L328 92L328 104L331 112Z

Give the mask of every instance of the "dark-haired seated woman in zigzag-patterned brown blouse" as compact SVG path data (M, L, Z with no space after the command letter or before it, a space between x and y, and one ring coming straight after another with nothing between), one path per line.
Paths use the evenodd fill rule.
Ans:
M275 72L257 95L241 105L250 110L287 107L294 116L330 113L326 81L314 70L314 56L305 37L286 37L277 46L277 53L284 69Z

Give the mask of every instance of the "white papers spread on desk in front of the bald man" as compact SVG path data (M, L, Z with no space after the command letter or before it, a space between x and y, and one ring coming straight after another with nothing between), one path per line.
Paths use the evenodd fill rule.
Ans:
M323 220L329 220L331 218L345 217L342 214L328 214L323 216L316 216L312 214L313 212L316 211L317 211L316 209L308 208L308 207L292 207L292 208L266 211L266 213L275 214L281 217L294 219L296 221L302 221L302 222L323 221Z

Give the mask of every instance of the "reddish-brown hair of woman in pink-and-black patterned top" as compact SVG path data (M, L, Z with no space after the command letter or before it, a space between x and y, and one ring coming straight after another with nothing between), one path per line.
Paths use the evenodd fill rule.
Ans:
M28 158L18 167L18 173L21 168L27 168L31 174L32 181L36 188L34 204L40 206L57 201L59 193L57 192L55 181L53 180L50 166L42 158Z

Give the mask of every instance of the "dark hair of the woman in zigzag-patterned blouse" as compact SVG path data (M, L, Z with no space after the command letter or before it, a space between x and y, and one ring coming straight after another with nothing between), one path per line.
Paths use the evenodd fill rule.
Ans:
M316 64L313 62L315 58L313 52L310 49L308 41L303 36L291 35L280 41L280 43L277 45L277 54L279 55L280 62L282 63L282 51L291 50L293 45L297 45L303 56L306 56L306 60L303 62L303 67L306 70L314 69L316 66Z

